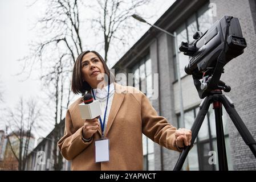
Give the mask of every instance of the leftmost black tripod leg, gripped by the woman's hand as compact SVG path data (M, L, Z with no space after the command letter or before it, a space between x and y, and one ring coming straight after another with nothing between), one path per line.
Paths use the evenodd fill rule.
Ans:
M200 104L200 110L198 111L197 117L191 127L191 131L192 131L192 139L191 139L191 144L188 147L184 147L184 150L181 152L180 157L178 158L178 161L175 165L175 167L173 168L173 171L180 171L186 156L188 155L188 152L190 150L190 147L193 146L194 140L197 137L198 131L200 130L200 127L202 125L202 122L205 119L205 115L208 112L209 106L211 103L211 98L210 97L205 97L204 100L201 102Z

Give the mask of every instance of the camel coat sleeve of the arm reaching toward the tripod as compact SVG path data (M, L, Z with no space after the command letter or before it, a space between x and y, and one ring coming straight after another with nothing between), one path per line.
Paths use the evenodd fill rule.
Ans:
M160 146L170 150L181 151L178 150L175 142L174 133L177 130L176 127L170 125L164 117L157 114L144 94L141 99L141 119L144 135L160 144Z

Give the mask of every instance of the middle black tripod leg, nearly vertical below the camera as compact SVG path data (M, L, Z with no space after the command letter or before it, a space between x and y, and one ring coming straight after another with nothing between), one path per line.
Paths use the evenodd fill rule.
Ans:
M227 166L227 155L226 155L226 147L225 147L225 137L224 137L223 124L222 124L221 102L218 102L218 101L213 102L213 109L214 109L215 121L216 121L215 123L216 123L219 170L227 171L228 166Z

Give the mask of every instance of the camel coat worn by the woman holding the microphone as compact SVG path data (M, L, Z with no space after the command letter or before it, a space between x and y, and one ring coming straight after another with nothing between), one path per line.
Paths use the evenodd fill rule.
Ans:
M142 92L115 83L105 129L109 162L95 163L95 140L101 137L101 129L99 127L90 142L82 140L84 119L78 108L82 101L83 98L79 98L67 110L64 136L58 142L63 157L71 160L71 170L143 170L142 133L161 146L178 151L174 137L176 127L157 115Z

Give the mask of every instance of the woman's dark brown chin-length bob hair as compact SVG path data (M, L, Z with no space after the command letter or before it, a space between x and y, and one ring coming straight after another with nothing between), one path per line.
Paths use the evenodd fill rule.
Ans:
M74 94L79 94L79 93L83 94L91 90L91 86L86 81L83 81L83 73L82 73L82 58L84 55L86 55L89 52L95 53L95 55L99 57L99 60L103 64L105 73L108 76L108 83L110 84L111 82L115 81L115 76L113 76L113 73L109 71L107 64L105 63L105 61L103 60L103 58L100 56L99 53L97 53L96 51L84 51L80 53L80 55L78 56L78 59L76 59L75 65L73 68L71 89L72 89L72 92L74 92Z

